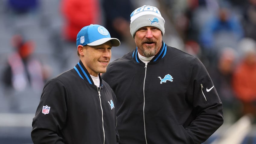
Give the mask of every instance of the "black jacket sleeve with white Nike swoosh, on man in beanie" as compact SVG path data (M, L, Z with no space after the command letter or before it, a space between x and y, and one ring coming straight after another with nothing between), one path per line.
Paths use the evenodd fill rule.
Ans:
M222 102L203 63L195 59L191 72L194 120L185 128L192 141L202 143L222 124Z

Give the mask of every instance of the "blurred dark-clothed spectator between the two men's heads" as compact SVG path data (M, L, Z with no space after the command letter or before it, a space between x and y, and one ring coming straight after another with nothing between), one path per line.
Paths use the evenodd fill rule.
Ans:
M112 51L111 61L122 57L136 48L130 33L130 14L134 9L132 0L101 0L104 27L111 37L116 37L121 44Z

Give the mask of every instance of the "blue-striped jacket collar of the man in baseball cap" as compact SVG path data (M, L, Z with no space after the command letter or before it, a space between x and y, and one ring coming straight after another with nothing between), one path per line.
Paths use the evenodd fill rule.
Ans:
M74 69L83 80L89 82L91 85L94 85L91 75L89 74L89 72L87 71L87 69L85 68L81 60L79 60L79 62L74 66ZM99 74L99 78L100 78L100 85L102 86L102 79L100 74Z

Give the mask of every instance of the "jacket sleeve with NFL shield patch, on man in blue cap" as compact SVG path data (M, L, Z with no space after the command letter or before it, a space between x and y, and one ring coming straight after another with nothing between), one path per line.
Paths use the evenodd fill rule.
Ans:
M46 82L32 122L31 138L34 144L64 143L61 130L66 122L66 94L64 85L58 79Z

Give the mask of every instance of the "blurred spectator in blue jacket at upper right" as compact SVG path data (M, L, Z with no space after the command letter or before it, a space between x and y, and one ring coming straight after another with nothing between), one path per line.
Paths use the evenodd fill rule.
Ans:
M219 4L216 15L210 18L200 33L200 45L210 63L215 62L219 49L232 47L236 49L237 41L244 36L242 24L237 15L232 13L231 5L225 1Z

